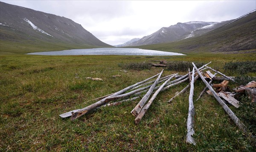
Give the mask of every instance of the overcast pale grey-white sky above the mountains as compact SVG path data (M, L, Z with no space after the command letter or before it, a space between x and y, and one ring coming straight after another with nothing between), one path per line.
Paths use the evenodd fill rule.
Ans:
M189 21L221 22L256 9L256 0L0 0L81 24L110 45Z

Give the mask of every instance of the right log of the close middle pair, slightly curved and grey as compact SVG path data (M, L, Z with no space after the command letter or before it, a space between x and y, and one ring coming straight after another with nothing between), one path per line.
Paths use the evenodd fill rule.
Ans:
M145 115L145 113L147 112L148 108L150 107L151 103L154 101L154 99L157 97L157 95L159 94L159 92L163 89L163 87L166 85L166 83L168 83L170 80L172 79L172 77L170 77L168 80L166 80L160 87L159 89L157 89L157 91L154 93L154 95L152 95L152 97L150 98L150 100L148 101L148 103L143 106L143 109L140 111L140 113L137 115L137 117L135 118L135 124L138 124L140 122L140 120L143 118L143 116Z

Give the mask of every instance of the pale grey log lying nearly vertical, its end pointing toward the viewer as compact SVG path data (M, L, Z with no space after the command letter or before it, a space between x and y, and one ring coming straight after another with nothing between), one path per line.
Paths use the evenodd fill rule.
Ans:
M200 73L200 72L199 72ZM192 70L192 79L190 83L190 92L189 92L189 112L187 118L187 134L186 134L186 142L191 144L196 144L192 135L195 134L194 130L194 115L195 108L193 103L193 95L194 95L194 81L195 81L195 68Z

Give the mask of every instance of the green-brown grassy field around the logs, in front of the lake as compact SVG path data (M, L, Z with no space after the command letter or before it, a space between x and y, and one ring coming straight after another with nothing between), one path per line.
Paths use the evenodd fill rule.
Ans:
M186 60L208 63L223 72L226 62L256 60L256 54L188 54L187 56L0 56L0 151L253 151L218 102L204 95L195 104L196 146L187 144L187 91L166 103L188 82L161 92L139 125L131 110L137 102L103 107L74 121L58 115L93 103L159 73L162 68L127 70L120 63ZM163 76L176 73L165 70ZM179 72L184 74L184 72ZM112 75L122 75L112 77ZM234 74L236 75L236 74ZM256 76L255 73L249 73ZM85 77L98 77L93 81ZM235 87L236 84L230 83ZM195 83L198 97L204 84ZM230 108L250 129L244 103ZM251 105L250 105L251 107ZM255 104L254 104L255 108ZM255 110L255 109L251 109ZM254 111L255 112L255 111ZM252 115L255 117L255 115ZM254 132L255 133L255 132Z

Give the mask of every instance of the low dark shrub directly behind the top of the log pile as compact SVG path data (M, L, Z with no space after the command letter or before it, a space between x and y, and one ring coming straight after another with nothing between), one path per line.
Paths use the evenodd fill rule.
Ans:
M204 65L202 62L194 62L195 65L199 68ZM172 61L167 64L167 69L172 71L188 71L188 69L192 70L193 65L187 61Z

